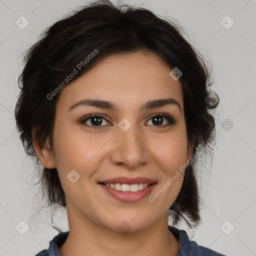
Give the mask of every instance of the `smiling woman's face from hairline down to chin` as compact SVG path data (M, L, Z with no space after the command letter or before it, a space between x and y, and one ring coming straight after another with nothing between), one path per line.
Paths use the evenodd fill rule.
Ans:
M170 70L150 51L113 54L59 92L54 157L42 161L58 171L69 222L89 221L119 231L126 221L135 231L166 219L184 173L179 171L175 180L172 176L192 153L187 153L181 83L169 75ZM180 108L174 103L146 104L167 98ZM108 101L115 108L106 103L75 106L85 99ZM155 118L157 113L164 116ZM89 114L95 117L84 120ZM117 198L108 192L114 188L99 183L115 177L145 177L156 184L145 194L114 190L113 194L125 193Z

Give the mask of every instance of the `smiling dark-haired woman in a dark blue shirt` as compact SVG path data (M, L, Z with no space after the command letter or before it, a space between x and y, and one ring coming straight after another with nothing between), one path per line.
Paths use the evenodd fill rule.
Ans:
M16 123L69 225L36 256L223 255L168 225L200 222L194 164L219 100L209 69L177 25L123 7L85 6L27 52Z

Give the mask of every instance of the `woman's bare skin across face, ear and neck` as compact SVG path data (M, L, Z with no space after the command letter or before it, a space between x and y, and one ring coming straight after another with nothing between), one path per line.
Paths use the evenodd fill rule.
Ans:
M36 139L34 148L44 167L57 169L65 192L69 235L58 248L62 256L177 255L180 244L167 229L168 209L184 173L154 202L148 200L192 155L182 87L169 75L171 69L150 51L112 54L59 92L53 150L47 144L39 148ZM139 111L148 100L167 97L179 102L181 112L174 104ZM79 106L68 111L85 98L109 100L119 108ZM104 115L100 128L93 128L91 119L86 121L91 128L79 123L90 113ZM154 124L150 117L157 113L170 115L176 123L164 127L168 120L162 117L162 124ZM131 123L125 132L118 127L123 118ZM74 183L66 177L72 169L80 174ZM123 202L97 184L117 176L148 177L157 185L143 199ZM123 221L130 226L127 233L119 229Z

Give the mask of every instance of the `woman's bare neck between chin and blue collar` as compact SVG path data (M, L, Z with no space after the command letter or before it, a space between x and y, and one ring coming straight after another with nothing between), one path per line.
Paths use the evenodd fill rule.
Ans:
M68 214L68 224L69 234L58 248L61 256L175 256L179 251L179 241L168 230L168 214L152 225L126 233L95 224L84 216Z

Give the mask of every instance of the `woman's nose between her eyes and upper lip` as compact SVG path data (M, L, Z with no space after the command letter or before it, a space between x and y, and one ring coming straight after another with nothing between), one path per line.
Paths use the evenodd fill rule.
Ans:
M133 169L138 165L144 165L149 157L150 150L146 146L145 137L141 131L136 130L135 125L131 125L126 131L117 129L110 154L113 164Z

